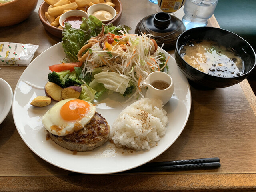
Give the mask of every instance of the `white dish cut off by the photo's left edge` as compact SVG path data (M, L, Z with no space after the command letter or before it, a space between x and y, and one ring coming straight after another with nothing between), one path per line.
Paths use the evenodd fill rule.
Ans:
M0 78L0 124L4 121L12 107L12 88Z

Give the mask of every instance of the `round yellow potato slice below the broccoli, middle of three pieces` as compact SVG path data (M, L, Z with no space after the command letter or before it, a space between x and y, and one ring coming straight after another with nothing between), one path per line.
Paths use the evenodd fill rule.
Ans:
M61 91L63 88L53 82L47 82L44 86L44 92L46 96L50 97L54 101L61 101Z

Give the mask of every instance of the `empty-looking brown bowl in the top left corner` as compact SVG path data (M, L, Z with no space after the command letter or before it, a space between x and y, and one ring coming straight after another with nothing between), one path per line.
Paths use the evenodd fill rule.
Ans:
M13 0L0 4L0 27L12 26L24 21L36 9L38 0Z

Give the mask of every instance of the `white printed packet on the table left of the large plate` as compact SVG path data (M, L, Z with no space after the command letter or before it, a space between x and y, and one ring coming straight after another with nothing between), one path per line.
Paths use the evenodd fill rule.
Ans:
M28 66L39 45L0 42L0 66Z

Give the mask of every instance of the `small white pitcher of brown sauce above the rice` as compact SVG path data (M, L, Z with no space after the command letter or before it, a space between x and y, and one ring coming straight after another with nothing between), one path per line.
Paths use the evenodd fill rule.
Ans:
M156 81L166 82L167 84L169 84L169 87L166 89L154 88L152 86L152 83ZM161 71L150 73L148 77L145 79L145 81L143 82L143 85L148 87L145 97L160 99L162 100L163 105L165 105L170 100L174 91L174 83L172 81L171 76Z

